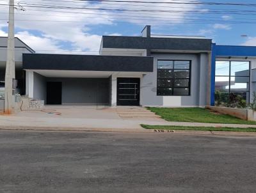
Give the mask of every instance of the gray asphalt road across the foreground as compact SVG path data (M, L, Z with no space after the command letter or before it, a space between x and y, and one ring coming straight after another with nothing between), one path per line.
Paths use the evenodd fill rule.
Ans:
M0 192L255 192L256 137L0 131Z

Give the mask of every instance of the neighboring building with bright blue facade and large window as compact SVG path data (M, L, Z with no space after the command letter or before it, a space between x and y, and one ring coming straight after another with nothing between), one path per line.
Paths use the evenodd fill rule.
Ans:
M247 103L256 91L256 47L212 44L211 105L214 93L234 93Z

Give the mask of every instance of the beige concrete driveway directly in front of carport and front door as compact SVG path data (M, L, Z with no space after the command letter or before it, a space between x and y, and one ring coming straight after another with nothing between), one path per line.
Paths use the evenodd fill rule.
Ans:
M157 119L153 112L143 107L107 105L45 105L42 111L20 111L15 116L35 118L84 118L84 119Z

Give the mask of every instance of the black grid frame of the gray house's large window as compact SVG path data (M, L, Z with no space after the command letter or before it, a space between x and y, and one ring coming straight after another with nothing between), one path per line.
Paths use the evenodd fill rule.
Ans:
M173 62L173 67L172 68L158 68L158 61L172 61ZM189 62L189 69L184 69L184 68L175 68L175 61L188 61ZM191 96L191 63L192 60L191 59L157 59L157 96ZM158 77L158 70L159 69L166 69L166 70L172 70L172 78L159 78ZM184 79L184 78L175 78L174 76L174 70L189 70L189 78L188 79ZM159 95L158 94L158 89L164 89L164 88L158 88L158 79L162 79L162 80L172 80L172 95ZM188 80L188 87L177 87L175 86L175 80ZM187 88L188 89L188 95L174 95L174 89L179 89L179 88Z

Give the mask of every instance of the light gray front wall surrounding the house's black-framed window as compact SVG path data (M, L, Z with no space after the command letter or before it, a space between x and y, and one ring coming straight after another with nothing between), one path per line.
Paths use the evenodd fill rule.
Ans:
M141 105L163 105L163 106L198 106L205 105L205 99L201 96L206 97L205 78L207 76L207 56L206 54L152 54L154 56L154 72L148 73L143 76L141 81ZM190 96L157 96L157 59L171 59L171 60L191 60L191 95ZM200 73L200 61L204 67ZM200 81L203 81L200 91ZM205 83L205 84L204 84Z

